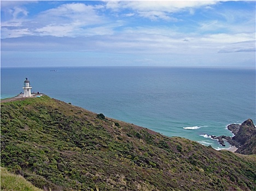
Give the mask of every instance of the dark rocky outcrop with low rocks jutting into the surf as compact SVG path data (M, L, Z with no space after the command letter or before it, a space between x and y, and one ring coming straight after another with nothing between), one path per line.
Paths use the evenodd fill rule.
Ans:
M228 129L234 136L211 135L211 138L217 139L222 146L225 146L224 140L228 141L233 148L232 151L235 150L236 153L256 154L256 128L251 119L246 120L242 124L230 124Z

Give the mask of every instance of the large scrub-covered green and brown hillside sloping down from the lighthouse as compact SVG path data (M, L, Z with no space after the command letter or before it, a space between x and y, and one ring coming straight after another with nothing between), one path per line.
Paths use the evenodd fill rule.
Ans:
M256 190L256 157L47 96L1 103L1 166L51 190Z

